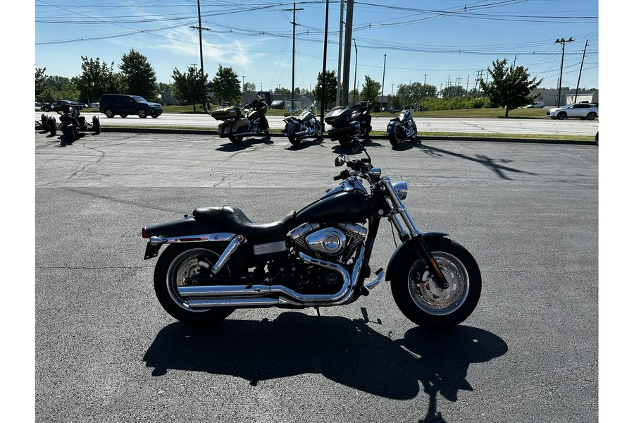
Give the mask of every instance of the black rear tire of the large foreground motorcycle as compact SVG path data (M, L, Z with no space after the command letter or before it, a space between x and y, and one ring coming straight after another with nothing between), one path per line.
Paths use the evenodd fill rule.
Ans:
M205 272L205 269L199 266L199 260L202 258L205 262L212 265L216 263L220 253L216 246L198 245L170 245L159 257L154 269L154 292L156 298L170 316L187 324L209 324L228 317L234 312L232 307L211 307L209 309L192 309L185 303L180 295L178 295L177 287L179 279L192 277ZM225 267L218 273L219 278L236 276L237 271L232 269L231 264L225 264ZM184 286L185 281L180 281L180 286Z

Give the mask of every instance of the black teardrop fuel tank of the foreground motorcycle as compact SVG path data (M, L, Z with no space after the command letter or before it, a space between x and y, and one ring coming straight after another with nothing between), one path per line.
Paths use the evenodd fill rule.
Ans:
M302 223L363 222L368 219L366 195L359 190L341 191L300 210L295 219Z

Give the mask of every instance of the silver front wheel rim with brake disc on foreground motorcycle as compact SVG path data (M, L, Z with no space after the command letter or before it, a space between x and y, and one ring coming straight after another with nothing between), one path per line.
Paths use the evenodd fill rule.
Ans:
M409 271L409 295L416 306L435 316L451 314L465 302L469 292L469 278L464 264L447 252L433 252L434 259L449 283L441 288L435 283L430 266L425 260L415 262Z

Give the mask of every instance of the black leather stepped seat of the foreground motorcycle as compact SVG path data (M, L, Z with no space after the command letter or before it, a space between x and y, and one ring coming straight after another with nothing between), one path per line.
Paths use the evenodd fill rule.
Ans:
M285 235L297 226L294 210L271 223L254 223L237 207L199 207L194 209L194 219L213 221L224 226L232 233L242 234L248 238L268 238Z

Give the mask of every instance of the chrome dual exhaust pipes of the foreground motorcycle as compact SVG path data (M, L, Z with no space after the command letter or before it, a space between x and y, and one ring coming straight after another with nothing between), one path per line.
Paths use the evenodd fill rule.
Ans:
M281 285L242 285L242 286L179 286L178 294L187 300L189 307L275 307L279 305L297 305L299 307L318 307L342 305L352 298L352 289L359 278L363 251L356 259L352 276L343 266L325 262L299 253L303 262L336 271L342 277L341 290L334 295L300 294Z

